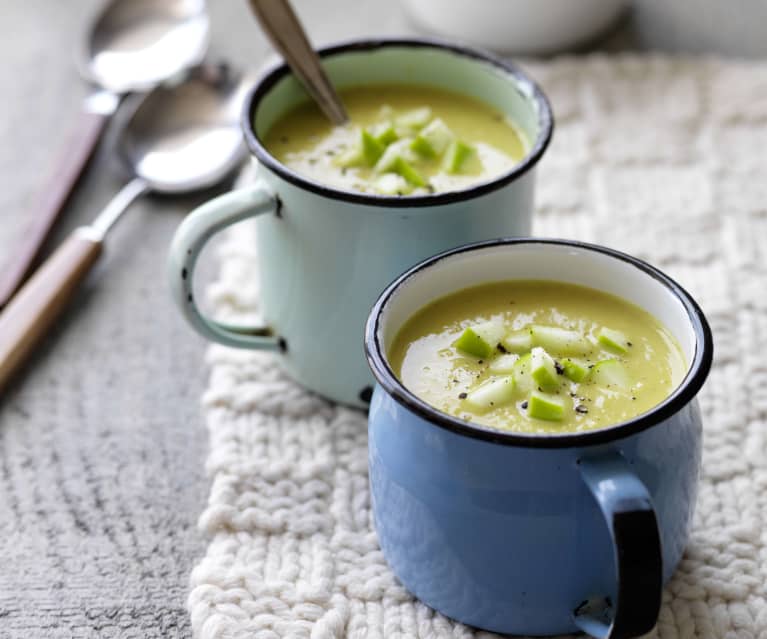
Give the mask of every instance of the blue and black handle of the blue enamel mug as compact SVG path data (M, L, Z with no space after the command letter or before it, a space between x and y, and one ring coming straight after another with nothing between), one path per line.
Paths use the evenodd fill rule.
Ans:
M618 587L614 605L604 596L580 604L575 624L599 639L639 637L655 627L663 589L660 532L650 494L617 451L583 458L579 467L610 531Z

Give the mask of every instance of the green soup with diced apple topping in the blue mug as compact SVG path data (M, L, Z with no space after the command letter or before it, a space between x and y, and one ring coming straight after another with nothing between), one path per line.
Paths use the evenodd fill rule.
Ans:
M526 433L584 431L639 415L684 377L669 331L590 288L504 281L438 299L389 351L395 374L435 408Z

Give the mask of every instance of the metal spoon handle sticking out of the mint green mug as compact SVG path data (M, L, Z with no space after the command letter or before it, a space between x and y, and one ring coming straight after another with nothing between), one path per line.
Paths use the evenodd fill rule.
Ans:
M301 23L287 0L250 0L264 32L333 124L349 120Z

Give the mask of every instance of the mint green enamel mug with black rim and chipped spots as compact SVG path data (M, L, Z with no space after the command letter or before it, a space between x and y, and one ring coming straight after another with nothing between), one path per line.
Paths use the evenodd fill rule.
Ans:
M307 99L287 67L267 73L251 91L242 126L259 164L258 180L207 202L181 224L169 259L174 298L208 339L276 351L307 388L366 406L373 378L362 333L376 296L429 255L470 241L528 235L534 169L553 122L546 98L530 78L483 53L430 40L367 40L329 47L320 55L337 87L411 84L467 94L507 114L529 141L518 165L463 191L406 197L352 193L298 175L264 148L266 131ZM214 233L250 217L257 218L253 241L265 323L224 325L196 304L195 263Z

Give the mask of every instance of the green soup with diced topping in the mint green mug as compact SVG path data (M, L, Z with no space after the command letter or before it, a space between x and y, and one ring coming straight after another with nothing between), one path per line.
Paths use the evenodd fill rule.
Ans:
M350 122L333 126L313 103L267 132L269 153L335 188L381 195L457 191L514 167L529 145L500 111L457 93L413 86L341 91Z

